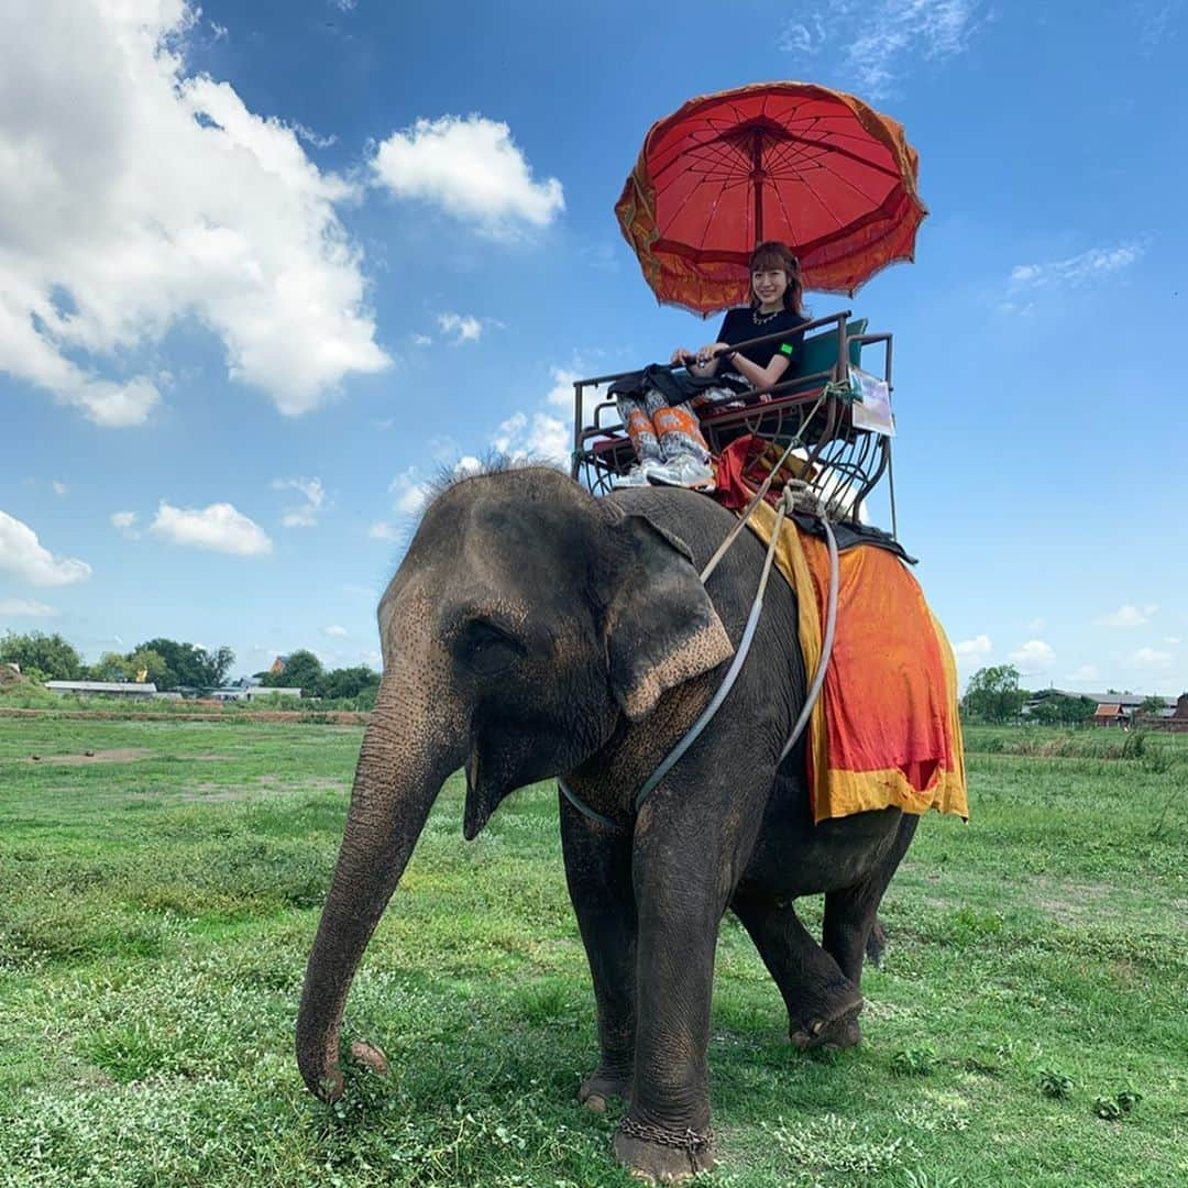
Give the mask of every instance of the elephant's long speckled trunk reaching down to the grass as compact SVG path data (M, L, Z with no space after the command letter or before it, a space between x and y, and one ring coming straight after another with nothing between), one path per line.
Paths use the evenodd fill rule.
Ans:
M334 880L305 968L297 1064L311 1093L342 1093L339 1031L355 969L424 828L446 777L461 766L460 734L413 683L385 676L364 735ZM436 734L436 737L434 737Z

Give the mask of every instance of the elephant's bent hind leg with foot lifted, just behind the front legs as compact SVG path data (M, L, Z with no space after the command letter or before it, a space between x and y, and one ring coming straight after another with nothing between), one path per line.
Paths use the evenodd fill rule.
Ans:
M731 908L779 987L792 1043L802 1051L858 1043L861 992L813 940L792 904L740 891Z

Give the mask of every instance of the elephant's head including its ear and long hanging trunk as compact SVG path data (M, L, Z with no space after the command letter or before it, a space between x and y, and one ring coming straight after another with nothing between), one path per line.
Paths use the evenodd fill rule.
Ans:
M446 778L473 839L516 788L573 771L731 644L685 545L542 468L428 507L379 605L384 676L302 993L297 1060L335 1098L350 981Z

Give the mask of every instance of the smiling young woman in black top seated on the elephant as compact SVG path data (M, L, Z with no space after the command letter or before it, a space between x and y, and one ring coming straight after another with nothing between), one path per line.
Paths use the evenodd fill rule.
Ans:
M649 482L712 491L714 470L709 447L697 426L695 410L738 400L757 387L770 387L795 374L808 318L801 304L801 270L784 244L760 244L751 253L751 303L732 309L722 321L718 340L699 350L677 347L669 360L684 366L699 380L716 379L687 404L672 404L655 386L620 394L619 413L639 460L617 487ZM750 339L779 334L778 339L741 350L731 348ZM760 400L770 400L764 394Z

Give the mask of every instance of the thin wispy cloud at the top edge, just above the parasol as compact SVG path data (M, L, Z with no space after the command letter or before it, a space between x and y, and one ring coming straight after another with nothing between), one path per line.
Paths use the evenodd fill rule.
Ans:
M962 53L985 23L984 7L980 0L830 0L810 24L785 24L778 44L802 56L828 46L854 82L847 89L881 99L915 62Z

